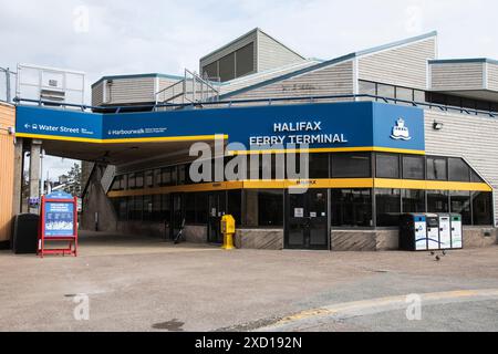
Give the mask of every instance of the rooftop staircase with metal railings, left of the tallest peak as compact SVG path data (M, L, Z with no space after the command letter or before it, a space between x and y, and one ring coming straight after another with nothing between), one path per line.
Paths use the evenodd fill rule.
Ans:
M198 74L185 70L185 77L156 93L156 104L193 104L217 102L219 90Z

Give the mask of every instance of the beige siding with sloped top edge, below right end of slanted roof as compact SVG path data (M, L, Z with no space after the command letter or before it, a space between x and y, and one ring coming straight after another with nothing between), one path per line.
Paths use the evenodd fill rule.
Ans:
M436 38L359 59L359 79L413 88L427 88L427 60L436 58Z

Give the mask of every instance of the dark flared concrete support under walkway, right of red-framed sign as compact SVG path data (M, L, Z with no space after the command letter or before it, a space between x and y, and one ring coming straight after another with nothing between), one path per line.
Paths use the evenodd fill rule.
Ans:
M105 166L97 166L90 177L86 195L83 196L83 212L80 220L82 230L95 230L95 212L98 212L98 231L117 230L116 212L101 185L104 170Z

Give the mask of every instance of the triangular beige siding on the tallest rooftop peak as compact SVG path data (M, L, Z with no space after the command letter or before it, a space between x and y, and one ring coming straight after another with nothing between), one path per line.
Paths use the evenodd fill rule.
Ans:
M268 34L258 31L258 72L280 67L303 59Z

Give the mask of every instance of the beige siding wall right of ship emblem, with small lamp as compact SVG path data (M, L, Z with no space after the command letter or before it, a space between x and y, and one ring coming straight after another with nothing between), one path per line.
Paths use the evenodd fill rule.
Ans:
M444 128L435 131L434 121L443 123ZM464 157L498 190L498 143L490 132L498 132L498 119L425 111L427 154ZM495 206L498 206L498 192L495 192ZM495 219L498 220L497 208Z

